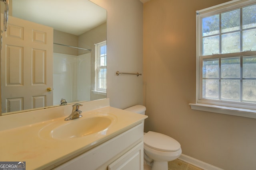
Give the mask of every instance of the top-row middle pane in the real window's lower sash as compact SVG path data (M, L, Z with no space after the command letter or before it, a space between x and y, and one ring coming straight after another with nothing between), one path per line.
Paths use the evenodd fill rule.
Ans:
M221 78L240 78L240 57L221 59Z

